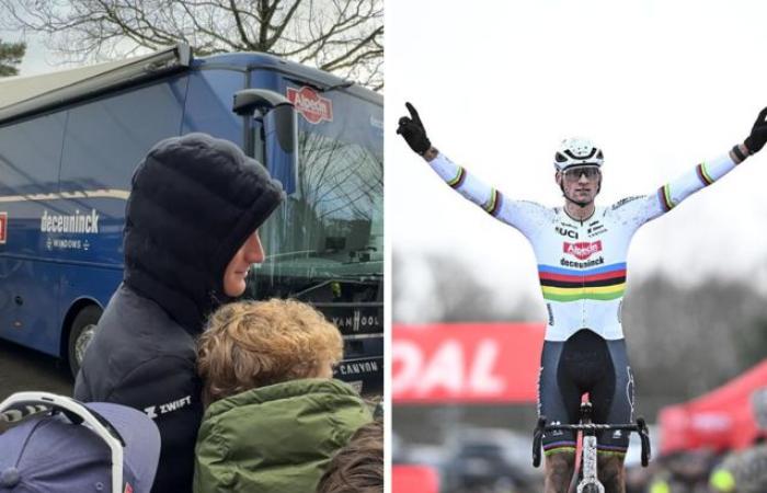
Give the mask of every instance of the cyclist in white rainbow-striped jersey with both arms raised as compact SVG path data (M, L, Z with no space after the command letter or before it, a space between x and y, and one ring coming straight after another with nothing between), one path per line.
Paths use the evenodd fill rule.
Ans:
M485 185L435 149L415 108L397 133L454 190L531 243L548 311L538 381L538 413L548 422L577 423L588 392L595 423L633 421L633 377L626 353L620 308L626 290L629 243L645 222L669 211L692 193L714 183L767 141L767 108L751 135L724 156L701 162L656 193L627 197L608 207L594 204L602 188L604 154L584 138L562 141L554 154L562 207L513 200ZM608 492L625 492L623 458L629 436L607 432L598 438L599 481ZM575 436L547 433L546 493L568 491L575 462Z

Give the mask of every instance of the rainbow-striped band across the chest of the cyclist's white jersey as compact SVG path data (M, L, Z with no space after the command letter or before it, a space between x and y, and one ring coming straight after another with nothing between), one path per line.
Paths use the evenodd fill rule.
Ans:
M626 290L626 262L585 271L538 265L538 277L549 301L613 300Z

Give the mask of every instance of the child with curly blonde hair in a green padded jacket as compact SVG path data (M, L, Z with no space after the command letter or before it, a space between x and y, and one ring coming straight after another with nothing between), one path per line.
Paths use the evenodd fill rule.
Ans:
M371 421L356 391L332 379L339 330L306 303L226 305L197 353L206 411L195 492L313 491L335 451Z

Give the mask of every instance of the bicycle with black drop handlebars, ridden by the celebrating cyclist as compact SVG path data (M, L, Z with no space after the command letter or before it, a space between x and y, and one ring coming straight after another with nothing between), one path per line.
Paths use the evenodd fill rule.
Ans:
M540 449L545 432L556 431L573 431L583 434L582 445L582 462L581 474L582 479L577 483L577 493L605 493L605 486L602 485L597 478L596 470L596 433L602 431L621 429L626 432L636 432L642 443L641 460L642 467L646 468L650 462L650 434L644 417L637 417L636 424L596 424L592 423L592 403L581 403L581 420L579 424L556 424L547 425L546 416L538 417L538 424L533 434L533 466L540 466Z

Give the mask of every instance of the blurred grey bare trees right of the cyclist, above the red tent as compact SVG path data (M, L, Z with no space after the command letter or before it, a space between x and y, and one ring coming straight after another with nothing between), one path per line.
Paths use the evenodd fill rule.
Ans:
M656 274L630 286L622 314L638 390L666 395L666 404L707 392L765 355L767 303L746 280L683 286Z

